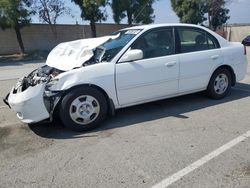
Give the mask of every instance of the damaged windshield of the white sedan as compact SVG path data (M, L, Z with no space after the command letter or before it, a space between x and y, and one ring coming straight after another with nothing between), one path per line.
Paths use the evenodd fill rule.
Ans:
M113 38L97 47L94 51L95 59L100 61L111 61L121 49L131 41L141 30L130 29L112 33Z

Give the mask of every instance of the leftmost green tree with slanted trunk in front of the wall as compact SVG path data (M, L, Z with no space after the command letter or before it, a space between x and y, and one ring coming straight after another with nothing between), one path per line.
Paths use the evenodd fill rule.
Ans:
M25 52L21 28L29 25L31 14L28 7L31 6L29 0L0 0L0 27L2 29L13 28L16 33L17 41L23 54Z

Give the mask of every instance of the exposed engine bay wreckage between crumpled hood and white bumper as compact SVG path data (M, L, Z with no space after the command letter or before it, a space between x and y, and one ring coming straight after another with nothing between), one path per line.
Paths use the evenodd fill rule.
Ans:
M62 72L64 71L47 65L40 67L32 71L28 76L20 78L13 90L13 93L20 93L25 91L30 86L33 87L41 83L47 83Z

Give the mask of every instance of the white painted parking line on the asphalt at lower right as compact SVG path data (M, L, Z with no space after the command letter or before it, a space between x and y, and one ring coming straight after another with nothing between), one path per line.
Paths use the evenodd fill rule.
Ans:
M195 169L201 167L202 165L206 164L210 160L218 157L220 154L224 153L225 151L229 150L230 148L236 146L243 140L250 137L250 131L246 132L245 134L233 139L232 141L226 143L225 145L221 146L220 148L212 151L208 155L202 157L201 159L195 161L194 163L188 165L184 169L176 172L175 174L169 176L168 178L162 180L160 183L154 185L152 188L164 188L168 187L169 185L175 183L176 181L180 180L183 176L191 173Z

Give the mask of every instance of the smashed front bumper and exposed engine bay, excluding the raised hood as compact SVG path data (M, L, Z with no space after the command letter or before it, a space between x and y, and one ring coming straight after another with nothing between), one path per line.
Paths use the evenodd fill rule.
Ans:
M62 92L51 92L48 87L62 72L47 65L34 70L18 80L4 102L24 123L36 123L46 119L51 121Z

